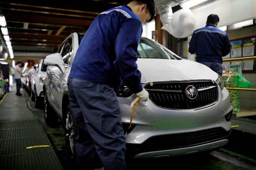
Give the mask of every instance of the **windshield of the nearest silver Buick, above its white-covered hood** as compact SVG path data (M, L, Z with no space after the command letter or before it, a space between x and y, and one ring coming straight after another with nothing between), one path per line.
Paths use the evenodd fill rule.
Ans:
M161 46L156 44L153 41L150 41L146 38L141 38L139 46L138 46L138 52L137 52L138 58L161 58L161 59L173 59L176 60L176 58L170 54L168 51L164 50Z

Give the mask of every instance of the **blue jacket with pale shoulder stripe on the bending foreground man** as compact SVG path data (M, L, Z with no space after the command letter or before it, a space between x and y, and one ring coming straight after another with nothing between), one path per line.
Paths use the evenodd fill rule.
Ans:
M68 77L107 84L115 91L123 80L132 92L142 91L135 63L141 34L140 18L130 7L100 13L85 33Z

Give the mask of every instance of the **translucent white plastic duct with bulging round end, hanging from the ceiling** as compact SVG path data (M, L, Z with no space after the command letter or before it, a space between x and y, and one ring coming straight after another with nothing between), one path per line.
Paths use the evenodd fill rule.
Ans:
M156 9L163 23L162 29L176 38L185 38L195 29L196 21L190 9L180 9L172 13L172 7L185 0L156 0Z

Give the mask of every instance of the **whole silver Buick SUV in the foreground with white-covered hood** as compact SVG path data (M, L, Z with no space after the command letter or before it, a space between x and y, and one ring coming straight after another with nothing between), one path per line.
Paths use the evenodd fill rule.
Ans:
M64 122L69 158L75 156L78 132L69 105L67 79L82 36L72 33L57 53L44 61L49 65L44 80L45 121L54 124L60 118ZM133 159L211 151L228 143L233 107L217 73L144 37L137 57L149 100L139 103L126 135L127 153ZM116 95L126 133L130 104L137 96L125 84Z

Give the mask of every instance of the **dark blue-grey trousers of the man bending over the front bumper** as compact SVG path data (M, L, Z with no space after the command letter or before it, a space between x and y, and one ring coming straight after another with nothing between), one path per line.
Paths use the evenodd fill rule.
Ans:
M114 89L76 78L68 78L67 84L78 128L78 167L96 169L104 165L106 170L126 169L124 129Z

